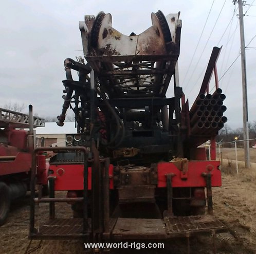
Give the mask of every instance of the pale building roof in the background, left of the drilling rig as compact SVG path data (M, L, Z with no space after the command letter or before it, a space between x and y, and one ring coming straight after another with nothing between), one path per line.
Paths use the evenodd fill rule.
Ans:
M75 122L65 122L63 126L58 126L56 122L46 122L45 127L35 129L36 134L68 134L77 133Z

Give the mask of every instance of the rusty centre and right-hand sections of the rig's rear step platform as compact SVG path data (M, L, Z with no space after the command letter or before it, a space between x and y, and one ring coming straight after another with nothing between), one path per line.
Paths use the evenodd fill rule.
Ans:
M226 231L214 216L166 217L161 219L118 218L113 239L167 239L190 237L202 232Z

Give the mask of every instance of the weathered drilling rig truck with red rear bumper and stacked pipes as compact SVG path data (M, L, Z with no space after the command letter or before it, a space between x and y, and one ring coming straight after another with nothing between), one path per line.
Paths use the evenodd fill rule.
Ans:
M31 195L30 239L160 241L225 229L212 204L212 187L221 186L215 137L227 120L216 71L221 49L213 48L189 107L178 81L179 13L157 11L151 18L149 29L129 36L112 27L109 13L85 15L79 23L87 63L65 59L57 122L63 126L71 108L77 133L66 135L64 147L33 152L31 186L36 154L56 155L49 161L49 197ZM200 145L208 140L206 160ZM57 190L66 197L56 196ZM42 202L49 202L49 218L35 226L34 207ZM58 218L58 202L69 203L74 218Z

